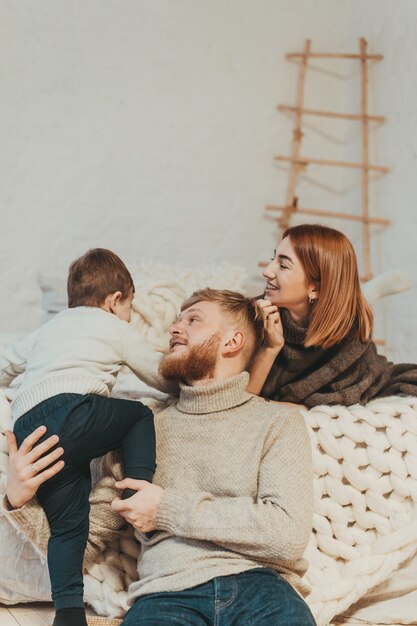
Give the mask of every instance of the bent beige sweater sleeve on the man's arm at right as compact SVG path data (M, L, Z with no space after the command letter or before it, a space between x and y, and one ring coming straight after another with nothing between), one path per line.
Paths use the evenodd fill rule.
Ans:
M165 489L156 526L188 539L211 541L255 560L302 556L312 526L310 442L301 415L277 420L266 441L255 496L221 497Z

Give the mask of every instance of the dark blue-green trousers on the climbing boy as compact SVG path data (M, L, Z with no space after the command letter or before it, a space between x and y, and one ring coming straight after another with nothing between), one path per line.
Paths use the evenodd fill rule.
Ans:
M141 402L93 394L62 393L22 415L14 426L20 446L38 426L58 435L64 468L41 485L37 498L51 529L48 567L57 609L83 607L82 566L88 538L90 462L121 447L125 475L152 480L155 429L152 411Z

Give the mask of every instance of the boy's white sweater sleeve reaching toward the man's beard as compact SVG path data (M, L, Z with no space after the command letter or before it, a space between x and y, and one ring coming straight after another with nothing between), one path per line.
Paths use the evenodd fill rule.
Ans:
M126 326L124 335L125 364L144 383L164 393L178 395L177 382L165 380L159 373L162 354L157 352L151 343L131 326Z

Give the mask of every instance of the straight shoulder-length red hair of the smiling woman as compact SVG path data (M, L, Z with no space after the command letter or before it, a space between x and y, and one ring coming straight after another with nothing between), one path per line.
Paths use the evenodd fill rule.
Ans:
M312 305L304 345L331 348L346 337L355 321L361 341L370 338L372 311L359 282L355 251L349 239L338 230L319 224L287 228L294 252L307 283L319 292Z

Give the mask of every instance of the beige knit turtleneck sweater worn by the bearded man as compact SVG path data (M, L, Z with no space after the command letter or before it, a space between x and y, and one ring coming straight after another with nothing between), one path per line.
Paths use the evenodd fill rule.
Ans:
M142 543L138 596L272 567L301 593L312 526L310 443L301 415L246 392L248 374L181 387L157 415L160 529Z

